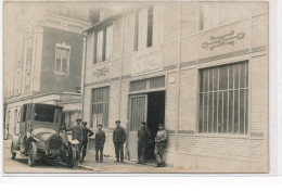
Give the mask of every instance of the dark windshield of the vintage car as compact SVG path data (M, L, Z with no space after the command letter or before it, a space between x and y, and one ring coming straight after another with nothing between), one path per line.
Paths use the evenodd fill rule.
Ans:
M59 110L53 105L39 104L35 107L35 120L57 123Z

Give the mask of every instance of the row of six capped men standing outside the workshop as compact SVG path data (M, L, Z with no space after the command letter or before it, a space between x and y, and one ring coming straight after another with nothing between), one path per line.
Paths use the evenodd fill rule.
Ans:
M82 128L80 126L81 119L76 119L77 125L70 127L66 130L72 130L72 139L77 140L78 143L78 160L80 163L85 162L86 157L86 150L88 144L88 138L93 136L93 131L87 128L87 122L82 122ZM120 120L116 120L116 128L113 131L113 143L115 147L115 155L116 161L115 163L125 163L124 162L124 144L126 142L126 131L125 128L120 126ZM106 140L105 132L102 130L102 125L99 124L98 131L95 132L94 137L94 144L95 144L95 162L103 163L103 149L104 143ZM149 148L149 142L151 140L151 132L146 127L146 123L141 123L141 128L138 131L138 164L145 164L146 163L146 151ZM155 137L155 149L154 155L157 160L156 167L164 167L164 151L167 142L167 132L164 129L164 125L158 125L158 131ZM82 151L82 156L80 157L80 152ZM100 153L100 154L99 154Z

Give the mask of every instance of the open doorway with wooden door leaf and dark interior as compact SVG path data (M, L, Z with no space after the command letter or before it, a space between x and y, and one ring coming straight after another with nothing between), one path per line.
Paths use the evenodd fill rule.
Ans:
M148 148L146 157L154 158L155 136L158 124L165 122L165 91L154 91L129 97L129 133L128 150L131 160L137 160L138 153L138 130L141 122L146 122L151 131L151 141Z

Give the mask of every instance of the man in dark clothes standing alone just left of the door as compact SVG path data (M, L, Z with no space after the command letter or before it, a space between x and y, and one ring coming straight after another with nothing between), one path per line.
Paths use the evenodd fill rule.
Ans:
M116 154L116 161L115 163L120 162L124 163L124 143L126 142L126 131L120 126L120 120L116 120L116 128L113 132L113 142L115 145L115 154Z

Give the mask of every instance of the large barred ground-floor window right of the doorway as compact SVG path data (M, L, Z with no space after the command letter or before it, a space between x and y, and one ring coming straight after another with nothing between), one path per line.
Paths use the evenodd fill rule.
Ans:
M247 61L200 72L198 132L247 133Z

